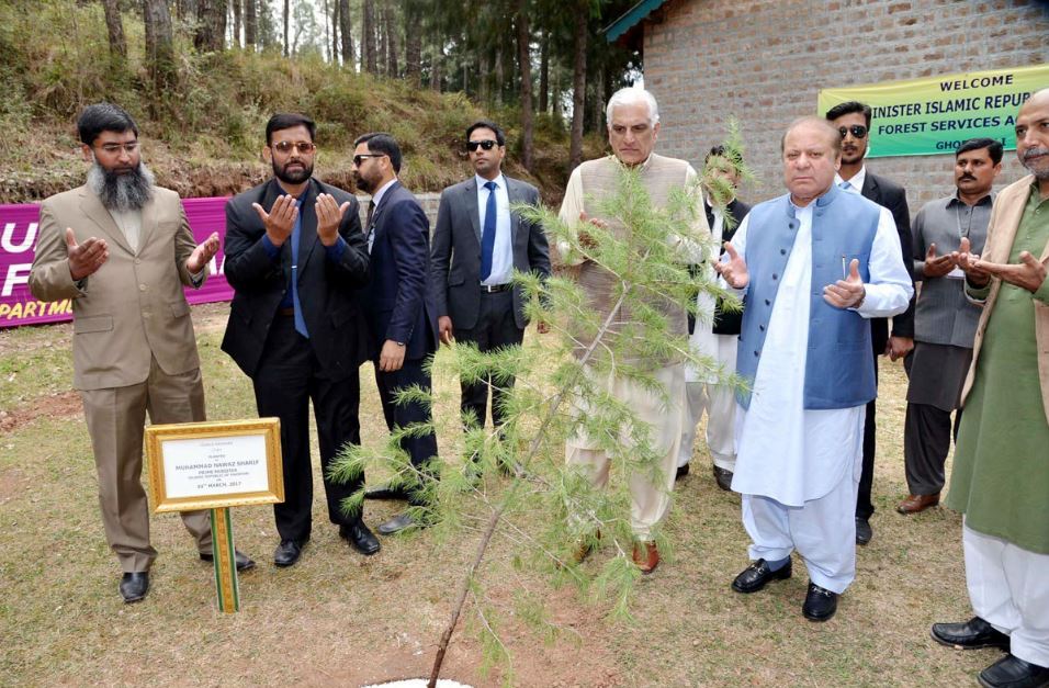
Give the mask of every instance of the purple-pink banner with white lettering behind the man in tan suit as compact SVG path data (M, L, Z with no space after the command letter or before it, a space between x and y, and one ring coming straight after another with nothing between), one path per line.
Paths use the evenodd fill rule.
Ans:
M226 196L219 199L183 199L182 206L198 243L217 232L225 245ZM53 303L37 301L30 293L30 269L36 248L40 205L0 204L0 327L38 325L72 319L72 301ZM233 287L223 271L226 256L222 249L208 266L207 281L201 289L187 289L191 304L229 301Z

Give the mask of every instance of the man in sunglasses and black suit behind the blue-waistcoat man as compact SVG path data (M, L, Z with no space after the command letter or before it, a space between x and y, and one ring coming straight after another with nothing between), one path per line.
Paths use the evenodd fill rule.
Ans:
M868 134L870 133L870 105L848 101L831 108L826 112L827 121L842 135L842 168L834 180L836 184L853 193L860 193L889 208L900 235L900 248L903 264L907 272L913 271L911 259L911 213L907 211L907 196L903 187L867 170L864 157L867 155ZM878 357L888 354L893 361L901 359L914 348L914 300L906 312L892 318L892 335L889 335L888 318L870 319L871 343L875 356L875 375L878 374ZM875 476L875 402L867 404L867 421L864 425L864 471L859 480L856 497L856 542L867 544L873 532L870 517L875 506L870 500L870 488Z

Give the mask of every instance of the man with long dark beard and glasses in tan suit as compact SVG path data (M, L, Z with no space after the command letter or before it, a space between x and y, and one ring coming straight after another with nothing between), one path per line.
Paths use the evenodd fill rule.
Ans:
M218 235L196 246L178 194L155 187L138 127L110 103L84 109L77 127L87 183L41 205L30 290L72 298L74 386L83 398L110 549L125 602L149 589L149 511L142 486L143 427L204 420L204 387L183 284L199 287ZM173 259L173 260L172 260ZM204 561L212 560L206 511L182 514ZM255 563L237 555L237 568Z

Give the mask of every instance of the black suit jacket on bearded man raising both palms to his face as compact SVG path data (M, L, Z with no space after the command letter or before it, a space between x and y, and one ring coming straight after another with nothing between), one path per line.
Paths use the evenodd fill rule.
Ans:
M262 357L270 325L291 289L291 238L281 245L277 260L266 252L266 228L251 207L267 212L283 192L277 180L249 189L226 203L226 280L235 294L222 349L248 376L253 376ZM346 241L338 263L330 260L317 237L315 202L329 193L350 206L342 216L339 235ZM357 374L368 358L368 334L359 305L358 289L368 282L368 250L358 202L352 194L311 180L302 195L302 229L298 241L298 297L309 343L320 364L335 377Z

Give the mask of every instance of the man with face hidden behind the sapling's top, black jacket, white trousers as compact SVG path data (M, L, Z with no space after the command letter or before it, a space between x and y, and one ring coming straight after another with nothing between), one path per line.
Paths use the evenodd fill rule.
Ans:
M732 240L740 223L751 212L751 206L735 195L742 163L743 160L734 159L733 154L726 151L724 146L712 147L703 159L703 210L711 237L714 244L722 247L720 253L725 252L724 244ZM721 202L715 203L715 199ZM704 269L710 268L702 264L689 266L692 274ZM720 300L714 302L707 294L697 294L697 312L704 317L697 323L696 316L688 314L689 342L697 351L719 363L723 370L733 372L736 368L736 348L743 313L724 311ZM686 365L685 397L685 419L675 480L688 475L696 441L696 426L706 411L707 448L713 460L714 481L718 487L727 490L731 488L736 465L735 392L730 385L718 384L715 377L701 375L692 366Z

